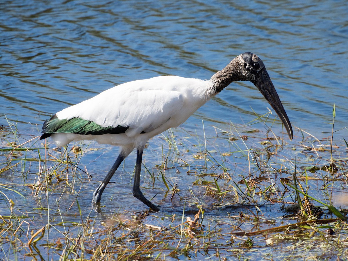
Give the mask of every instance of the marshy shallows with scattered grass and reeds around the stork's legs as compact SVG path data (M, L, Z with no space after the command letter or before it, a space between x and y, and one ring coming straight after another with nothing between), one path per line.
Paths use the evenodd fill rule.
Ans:
M332 125L321 140L296 128L292 142L252 124L169 130L144 151L141 185L161 208L153 212L125 188L132 163L115 174L106 205L90 203L109 147L55 149L8 123L1 259L346 260L348 144L335 142Z

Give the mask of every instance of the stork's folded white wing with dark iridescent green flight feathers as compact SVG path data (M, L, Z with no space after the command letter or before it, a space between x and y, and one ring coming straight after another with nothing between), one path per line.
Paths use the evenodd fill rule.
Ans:
M141 84L122 84L57 112L45 122L42 138L52 133L132 136L158 128L182 109L185 97L179 92L135 88L136 82Z

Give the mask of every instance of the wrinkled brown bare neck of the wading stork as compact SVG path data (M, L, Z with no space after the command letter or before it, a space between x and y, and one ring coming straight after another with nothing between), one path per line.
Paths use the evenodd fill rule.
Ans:
M240 57L234 58L225 68L215 73L210 81L213 82L213 92L215 94L221 92L223 88L227 87L232 81L247 80L246 76L242 73Z

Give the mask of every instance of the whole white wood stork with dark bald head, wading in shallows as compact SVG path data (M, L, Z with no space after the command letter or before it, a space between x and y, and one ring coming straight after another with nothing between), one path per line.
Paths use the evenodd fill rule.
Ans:
M276 111L292 139L290 120L266 68L261 59L250 52L234 58L210 80L159 76L105 90L46 120L40 139L51 137L58 147L79 140L96 140L121 147L109 173L93 193L94 204L100 202L112 175L136 148L133 196L158 211L159 208L146 199L140 190L145 143L151 137L182 124L233 81L251 81Z

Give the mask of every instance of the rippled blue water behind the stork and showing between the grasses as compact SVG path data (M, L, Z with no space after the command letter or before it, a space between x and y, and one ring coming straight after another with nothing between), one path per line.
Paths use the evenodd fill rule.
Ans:
M40 135L42 122L50 115L114 85L167 74L209 79L235 56L250 51L266 64L293 126L318 139L330 136L332 125L327 122L332 122L335 104L335 129L341 129L335 142L344 144L341 137L348 136L347 40L345 1L6 1L0 5L0 125L8 125L7 118L18 122L21 134ZM246 124L256 118L253 111L262 115L268 112L266 107L268 103L251 83L233 83L175 134L192 148L204 143L202 120L206 135L213 137L212 125L228 130L230 121ZM252 127L266 132L262 123ZM272 130L280 135L279 120ZM211 144L223 152L234 149L225 140ZM117 149L90 147L102 150L85 153L82 165L92 175L106 173ZM152 168L161 164L168 144L157 137L150 148L145 164ZM292 151L284 153L293 158ZM182 157L192 160L190 154ZM232 157L229 164L239 168ZM114 178L115 190L121 190L118 195L127 200L134 159L131 155L124 174ZM247 166L247 161L241 161ZM33 182L36 173L25 177L24 183ZM192 184L175 170L171 178L173 182L181 179L188 188ZM16 179L9 174L3 182ZM79 195L81 205L89 206L96 184L79 184L86 191ZM165 190L160 180L153 185L149 177L144 186L154 188L148 190L151 195ZM125 187L129 190L122 191ZM114 191L103 196L112 198ZM25 207L31 200L18 204ZM143 208L133 201L132 209ZM120 203L111 202L116 204L113 208ZM162 206L174 213L182 211L170 201Z

